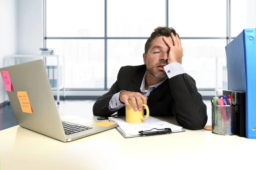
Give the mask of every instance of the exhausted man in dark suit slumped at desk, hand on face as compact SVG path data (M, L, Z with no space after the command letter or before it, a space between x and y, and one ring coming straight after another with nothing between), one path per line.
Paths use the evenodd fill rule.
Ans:
M184 72L183 49L175 29L157 27L145 43L144 64L123 66L111 89L93 105L93 115L125 115L125 105L141 110L147 104L151 116L175 116L180 126L202 129L207 107L195 80Z

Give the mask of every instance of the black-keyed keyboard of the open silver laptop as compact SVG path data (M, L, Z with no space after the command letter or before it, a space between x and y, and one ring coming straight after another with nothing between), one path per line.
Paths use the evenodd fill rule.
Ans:
M78 132L82 132L84 130L92 129L92 127L83 126L80 124L73 124L73 123L65 122L65 121L62 121L61 123L62 123L64 132L66 135L71 135L73 133L78 133Z

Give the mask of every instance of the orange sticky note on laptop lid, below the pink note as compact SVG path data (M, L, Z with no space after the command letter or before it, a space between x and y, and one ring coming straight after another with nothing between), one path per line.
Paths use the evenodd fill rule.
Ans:
M27 92L17 92L22 112L33 113Z

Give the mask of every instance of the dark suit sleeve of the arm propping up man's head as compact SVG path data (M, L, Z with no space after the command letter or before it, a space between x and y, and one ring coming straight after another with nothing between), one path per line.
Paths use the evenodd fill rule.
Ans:
M207 123L207 107L198 92L195 80L188 74L176 75L169 79L174 98L172 112L180 126L199 130Z

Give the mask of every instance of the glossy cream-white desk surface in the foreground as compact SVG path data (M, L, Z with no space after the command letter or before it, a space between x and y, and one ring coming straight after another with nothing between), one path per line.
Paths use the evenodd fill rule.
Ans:
M64 121L73 118L61 117ZM172 118L159 119L173 123ZM255 170L255 146L255 139L216 135L204 129L137 138L124 138L111 129L64 143L15 126L0 131L0 169Z

